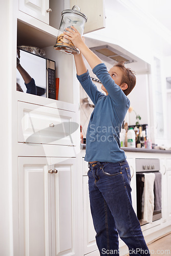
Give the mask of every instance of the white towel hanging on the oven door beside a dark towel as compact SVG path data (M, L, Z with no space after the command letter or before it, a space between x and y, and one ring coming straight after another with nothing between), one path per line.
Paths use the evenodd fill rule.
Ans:
M144 173L144 212L143 221L152 223L154 211L154 173Z

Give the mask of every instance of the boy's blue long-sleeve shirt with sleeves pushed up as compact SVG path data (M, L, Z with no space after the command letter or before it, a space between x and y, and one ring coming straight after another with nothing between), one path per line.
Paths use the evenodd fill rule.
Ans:
M95 108L90 117L86 135L85 161L121 162L126 159L120 148L119 133L130 100L110 76L104 63L93 69L93 73L102 82L108 95L97 90L92 82L89 71L78 76L83 89L87 92Z

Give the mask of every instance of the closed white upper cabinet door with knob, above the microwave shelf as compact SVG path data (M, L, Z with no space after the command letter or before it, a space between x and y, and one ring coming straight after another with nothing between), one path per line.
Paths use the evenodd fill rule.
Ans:
M19 10L49 24L49 0L19 0Z

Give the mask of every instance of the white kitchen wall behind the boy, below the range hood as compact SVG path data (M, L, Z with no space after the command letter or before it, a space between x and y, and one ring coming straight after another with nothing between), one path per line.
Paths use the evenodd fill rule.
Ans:
M90 76L93 78L97 78L95 74L93 74L88 62L84 59L86 62L87 69L90 72ZM104 61L106 67L108 70L112 67L111 64L106 63ZM140 70L138 69L138 63L136 63L136 67L127 64L125 65L127 68L131 68L133 71L137 69L137 71L140 73ZM149 123L149 106L148 106L148 75L147 74L136 74L137 82L134 90L128 95L128 98L130 99L131 106L133 107L132 113L127 112L125 116L125 122L127 122L129 125L135 125L136 123L136 114L141 116L141 120L139 121L140 124L148 124ZM97 78L98 79L98 78ZM101 92L101 83L93 81L95 85L97 86L97 89ZM104 92L103 92L104 93ZM88 98L88 99L87 99ZM90 102L87 102L87 101ZM80 85L80 124L82 125L82 133L83 137L86 138L86 132L87 127L89 124L90 116L93 112L92 102L87 95L87 93L83 90L83 88ZM135 114L136 112L136 114Z

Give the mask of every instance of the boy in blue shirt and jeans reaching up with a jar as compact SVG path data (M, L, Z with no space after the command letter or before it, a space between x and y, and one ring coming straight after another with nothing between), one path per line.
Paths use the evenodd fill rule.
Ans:
M90 167L90 205L100 255L119 255L118 233L130 254L150 255L132 207L130 167L119 140L121 125L130 107L126 95L135 87L136 77L123 63L108 72L73 26L64 33L80 50L80 54L74 56L77 78L95 104L87 130L85 160ZM93 84L82 55L102 82L106 95Z

